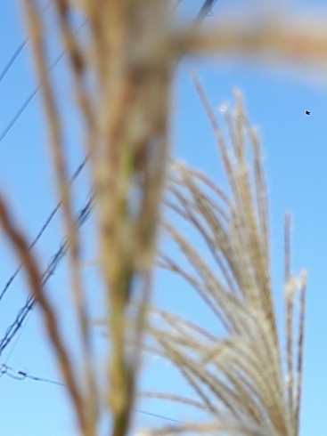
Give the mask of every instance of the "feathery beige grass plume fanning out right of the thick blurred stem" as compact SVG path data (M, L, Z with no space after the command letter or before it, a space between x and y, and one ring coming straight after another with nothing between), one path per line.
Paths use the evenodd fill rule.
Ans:
M213 335L172 313L152 312L156 315L148 328L152 345L146 351L171 361L192 388L194 397L188 399L161 392L140 395L207 410L208 423L169 426L151 434L297 436L306 271L302 271L299 279L291 275L288 217L285 222L287 355L283 359L270 278L268 207L258 133L249 125L241 93L236 92L234 111L224 108L230 141L227 145L198 78L193 75L192 80L214 129L228 187L222 190L205 174L172 163L165 204L197 232L207 246L210 259L195 246L194 239L163 220L164 232L178 246L188 267L181 266L168 253L159 254L159 266L184 279L224 330L222 335ZM301 302L299 314L295 313L294 305L297 289ZM294 337L296 319L299 324Z

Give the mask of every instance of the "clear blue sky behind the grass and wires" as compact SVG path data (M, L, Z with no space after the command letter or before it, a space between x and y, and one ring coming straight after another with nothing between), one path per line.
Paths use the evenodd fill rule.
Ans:
M192 17L202 0L184 0L180 12ZM46 3L46 2L44 2ZM19 2L0 3L0 73L12 53L24 39ZM302 0L288 2L290 11L309 6L322 7L323 1ZM218 0L212 21L227 6L253 7L258 2ZM327 12L327 7L324 12ZM52 29L51 11L47 14L48 28ZM29 44L20 52L12 68L0 82L0 135L11 123L21 105L36 88L31 72ZM60 53L56 44L50 45L52 60ZM188 76L189 66L196 68L200 81L208 93L213 107L219 113L222 103L233 103L233 88L241 89L249 118L259 126L262 139L266 179L268 185L274 290L277 304L282 293L282 222L283 214L290 211L293 221L293 270L307 267L307 329L304 365L304 391L302 405L302 436L324 434L327 429L327 80L315 80L307 71L276 71L268 65L240 61L184 61L176 73L173 93L172 141L176 157L183 158L212 177L217 176L217 149L208 119ZM69 77L65 74L65 60L53 69L52 77L61 92L69 90ZM71 104L71 103L70 103ZM78 117L72 106L65 103L68 115L67 146L71 172L83 158L78 137ZM311 111L307 117L305 111ZM1 136L0 136L1 137ZM0 187L8 198L23 228L31 238L37 234L55 205L53 174L45 147L46 133L38 94L30 101L11 130L0 141ZM77 210L87 198L87 176L82 174L76 184ZM61 244L60 219L55 219L37 245L40 262L44 266L52 259ZM83 235L92 237L92 219L87 222ZM0 237L0 291L17 261ZM90 250L87 258L92 258ZM95 276L86 270L87 288L94 298L94 316L99 315ZM48 292L53 303L66 313L67 291L65 262L49 282ZM24 304L27 290L23 276L19 275L0 301L0 340ZM196 299L181 282L168 275L158 275L155 301L176 313L201 321ZM278 306L279 307L279 306ZM63 312L63 311L61 311ZM69 319L69 316L66 318ZM62 327L69 337L73 335L69 321L62 318ZM17 338L17 336L16 336ZM99 334L99 348L103 339ZM45 340L39 313L31 314L19 340L8 345L0 363L29 371L30 375L60 380L53 363L51 348ZM158 377L158 370L160 377ZM12 373L14 374L14 373ZM17 374L16 374L17 375ZM152 362L143 384L167 389L180 386L185 390L170 367ZM174 419L187 419L187 411L174 405L158 406L144 402L143 410ZM69 401L61 386L43 382L17 381L7 375L0 377L0 425L2 436L74 435L74 423L69 415ZM135 414L136 424L159 424L159 418Z

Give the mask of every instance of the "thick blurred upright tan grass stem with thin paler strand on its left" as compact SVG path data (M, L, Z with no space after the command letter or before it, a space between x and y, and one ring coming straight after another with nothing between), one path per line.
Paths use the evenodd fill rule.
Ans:
M121 0L81 2L87 20L87 47L72 28L71 18L76 4L56 0L53 5L69 57L78 107L86 123L86 153L97 203L99 258L108 301L111 338L107 400L113 417L112 434L119 436L127 432L133 405L140 352L137 343L143 331L150 292L159 202L168 156L168 101L173 58L158 63L154 49L168 34L171 5L161 0L145 1L143 4ZM86 391L82 392L81 383L75 380L69 382L72 374L65 371L63 374L70 394L72 384L74 392L77 392L72 398L82 434L94 435L99 419L100 393L95 383L61 114L47 75L46 30L42 17L34 0L25 1L25 6L37 74L42 83L58 195L62 198L70 247L71 288L83 342ZM150 52L149 41L153 48ZM147 55L145 58L144 52ZM94 75L92 92L87 84L90 75ZM141 289L137 289L136 284ZM136 332L136 345L131 356L125 339L127 313L130 314L127 308L133 293L141 299L141 303L135 315L135 324L131 327ZM45 319L46 316L45 313ZM62 361L62 353L55 348L58 359ZM68 365L71 367L69 359Z

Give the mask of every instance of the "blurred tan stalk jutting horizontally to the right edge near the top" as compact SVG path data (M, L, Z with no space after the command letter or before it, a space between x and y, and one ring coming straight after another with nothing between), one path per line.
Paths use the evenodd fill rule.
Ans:
M184 33L182 45L196 55L218 55L325 70L327 17L307 12L225 14L214 26Z

